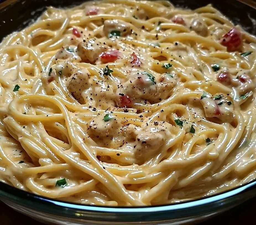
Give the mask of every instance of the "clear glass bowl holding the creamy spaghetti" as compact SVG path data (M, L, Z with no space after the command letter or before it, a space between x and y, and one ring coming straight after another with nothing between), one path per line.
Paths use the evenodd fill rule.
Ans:
M2 39L36 19L47 6L70 6L70 0L0 1ZM84 1L72 1L72 5ZM212 3L235 24L256 34L256 2L251 0L173 0L176 6L195 9ZM243 13L237 13L243 12ZM47 224L195 224L256 196L256 181L202 199L149 207L101 207L49 199L0 182L0 199L10 207Z

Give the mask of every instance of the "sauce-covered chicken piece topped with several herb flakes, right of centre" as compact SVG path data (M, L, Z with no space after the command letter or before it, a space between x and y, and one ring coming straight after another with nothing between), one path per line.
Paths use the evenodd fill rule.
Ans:
M231 99L224 94L211 96L204 93L200 99L205 116L208 118L219 118L223 122L232 122L234 119L234 106Z

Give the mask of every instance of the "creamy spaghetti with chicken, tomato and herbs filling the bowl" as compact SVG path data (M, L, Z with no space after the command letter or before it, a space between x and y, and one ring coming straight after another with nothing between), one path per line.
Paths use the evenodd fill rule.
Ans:
M0 180L109 206L254 180L255 48L211 5L49 7L0 44Z

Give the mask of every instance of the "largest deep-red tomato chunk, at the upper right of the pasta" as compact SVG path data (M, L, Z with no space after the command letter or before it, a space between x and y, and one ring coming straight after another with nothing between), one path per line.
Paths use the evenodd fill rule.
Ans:
M243 44L242 34L236 28L233 28L227 34L223 35L220 43L226 46L228 51L237 51Z

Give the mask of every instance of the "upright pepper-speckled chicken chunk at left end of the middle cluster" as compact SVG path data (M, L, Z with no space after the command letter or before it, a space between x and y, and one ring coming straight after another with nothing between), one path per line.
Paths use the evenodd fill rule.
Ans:
M87 69L81 69L71 75L68 82L68 90L72 96L80 103L85 104L84 91L88 88L90 73Z

